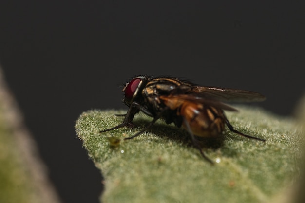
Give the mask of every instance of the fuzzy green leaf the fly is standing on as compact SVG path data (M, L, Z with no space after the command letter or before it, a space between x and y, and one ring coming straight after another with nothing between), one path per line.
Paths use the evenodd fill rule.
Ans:
M99 133L120 124L125 111L86 111L76 132L105 177L103 203L267 202L299 177L301 129L291 118L261 109L227 112L232 126L266 143L226 131L224 140L205 148L211 165L192 147L186 130L158 121L140 136L117 144L152 118L135 116L137 127ZM109 141L109 137L113 141ZM209 142L207 142L209 145ZM115 145L114 145L115 144Z

